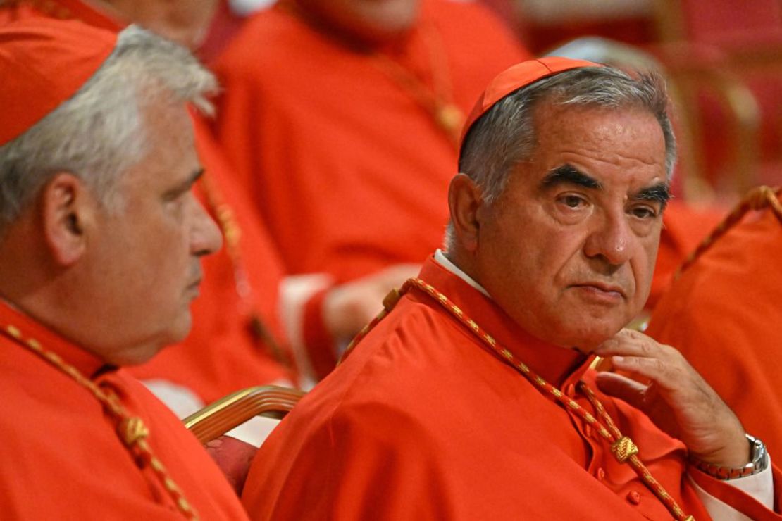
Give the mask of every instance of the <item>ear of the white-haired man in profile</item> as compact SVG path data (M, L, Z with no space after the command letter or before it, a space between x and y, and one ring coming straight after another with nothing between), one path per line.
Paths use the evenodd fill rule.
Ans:
M46 245L59 265L71 266L84 255L92 202L84 182L72 173L56 173L41 191Z

